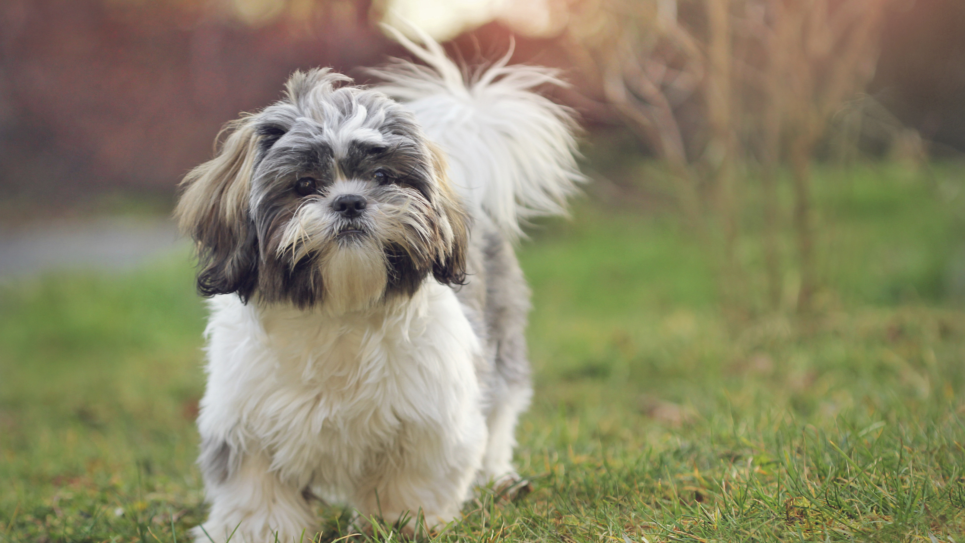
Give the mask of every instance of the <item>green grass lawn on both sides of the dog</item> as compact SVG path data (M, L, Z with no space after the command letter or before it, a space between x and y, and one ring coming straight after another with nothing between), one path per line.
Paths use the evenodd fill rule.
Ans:
M536 394L516 463L534 491L483 492L438 539L965 542L963 174L820 170L807 323L727 322L667 214L591 200L547 222L520 250ZM203 327L186 254L2 288L0 541L188 539ZM319 515L324 540L347 535Z

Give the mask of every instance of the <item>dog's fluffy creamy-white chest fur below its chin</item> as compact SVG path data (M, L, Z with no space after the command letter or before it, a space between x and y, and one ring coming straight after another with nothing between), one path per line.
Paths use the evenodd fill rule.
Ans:
M479 341L434 281L391 309L339 318L234 297L212 309L200 422L232 429L227 443L268 451L282 479L325 498L435 454L447 428L479 414Z

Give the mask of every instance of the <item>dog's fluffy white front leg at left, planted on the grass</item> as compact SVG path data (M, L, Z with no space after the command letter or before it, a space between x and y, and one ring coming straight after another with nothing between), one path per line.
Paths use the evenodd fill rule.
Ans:
M204 468L204 465L203 465ZM245 454L237 468L205 473L211 510L194 529L196 543L302 543L316 534L316 520L296 483L279 479L260 452ZM218 479L221 480L218 480ZM234 536L232 533L234 532Z

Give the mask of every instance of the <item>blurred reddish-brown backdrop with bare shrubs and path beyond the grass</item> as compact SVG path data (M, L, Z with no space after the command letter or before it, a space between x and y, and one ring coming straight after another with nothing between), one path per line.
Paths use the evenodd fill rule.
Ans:
M955 0L10 0L0 272L162 245L170 226L101 217L54 239L24 225L163 214L218 130L278 99L291 71L366 82L359 67L403 55L378 27L397 17L470 66L511 49L511 62L560 69L571 86L546 91L586 129L590 193L676 214L713 253L725 299L751 296L739 245L762 221L756 307L780 305L788 266L795 307L819 288L814 161L917 168L965 148ZM794 240L780 239L785 222ZM948 293L965 282L946 279Z

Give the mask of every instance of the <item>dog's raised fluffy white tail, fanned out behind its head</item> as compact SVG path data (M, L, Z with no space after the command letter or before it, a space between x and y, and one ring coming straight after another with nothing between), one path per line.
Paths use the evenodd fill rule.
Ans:
M470 205L510 237L530 217L565 213L566 197L584 180L574 158L577 126L569 108L531 90L563 85L556 72L506 66L507 54L467 76L419 29L425 45L386 29L428 66L398 60L372 70L385 81L377 88L405 102L448 153L453 183Z

